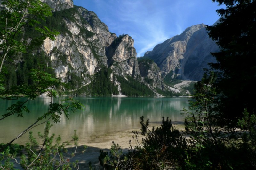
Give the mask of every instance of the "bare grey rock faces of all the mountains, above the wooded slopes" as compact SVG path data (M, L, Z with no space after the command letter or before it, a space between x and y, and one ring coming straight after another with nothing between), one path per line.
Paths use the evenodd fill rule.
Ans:
M72 0L42 1L53 8L53 16L59 16L61 25L56 40L46 39L42 50L50 57L56 76L62 82L72 82L73 89L89 84L92 75L102 67L110 67L115 85L119 85L115 75L130 76L144 81L152 89L164 90L163 77L170 72L172 77L200 80L202 68L214 62L210 52L218 50L209 39L205 25L195 25L145 53L144 57L154 62L139 64L132 37L110 33L94 12L73 7Z

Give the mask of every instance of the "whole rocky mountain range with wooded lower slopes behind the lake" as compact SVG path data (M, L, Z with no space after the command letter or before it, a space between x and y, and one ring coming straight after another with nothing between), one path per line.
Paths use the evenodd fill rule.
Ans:
M7 89L29 84L29 70L39 68L55 74L68 95L188 95L186 86L192 81L184 80L200 80L202 68L215 61L210 52L218 46L203 24L187 28L137 59L132 37L109 32L94 12L72 0L41 1L53 11L41 24L60 34L9 63ZM26 28L23 39L33 36L36 33Z

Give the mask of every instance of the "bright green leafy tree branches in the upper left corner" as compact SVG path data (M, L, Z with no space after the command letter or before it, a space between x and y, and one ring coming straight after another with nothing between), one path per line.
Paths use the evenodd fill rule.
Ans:
M51 16L50 7L39 0L3 0L0 17L0 57L1 66L4 61L16 52L26 52L26 46L36 46L43 42L47 37L54 40L54 35L58 32L52 32L46 26L38 27L40 24L37 18L43 19ZM19 40L18 36L23 34L25 26L31 26L33 29L40 33L40 36L32 38L29 41Z

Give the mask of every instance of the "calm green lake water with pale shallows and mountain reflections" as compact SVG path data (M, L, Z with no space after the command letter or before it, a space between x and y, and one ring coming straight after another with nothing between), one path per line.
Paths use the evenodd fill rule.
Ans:
M188 107L188 98L149 98L149 97L76 97L84 104L84 110L71 113L69 119L61 116L60 123L53 123L51 133L60 134L63 141L71 139L74 130L77 130L79 142L86 143L92 136L114 133L128 129L140 128L140 117L149 118L150 126L160 125L162 117L169 117L173 123L183 123L180 113ZM60 98L54 99L58 102ZM36 119L47 112L50 102L48 97L38 97L27 103L30 113L24 118L11 116L0 121L0 143L6 143L15 138ZM0 115L6 113L6 108L12 101L1 100ZM32 131L43 132L44 125L37 126ZM28 142L28 134L15 140L15 143Z

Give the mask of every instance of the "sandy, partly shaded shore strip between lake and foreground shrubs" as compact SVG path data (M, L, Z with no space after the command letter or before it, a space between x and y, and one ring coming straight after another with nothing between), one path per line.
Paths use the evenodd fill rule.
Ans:
M185 130L184 124L181 122L172 123L172 126L174 129L181 131ZM160 127L160 125L155 126ZM149 129L152 129L153 126L150 126ZM132 131L138 132L138 139L141 142L142 138L144 136L141 135L140 128L136 129L127 129L124 131L114 131L109 133L103 133L103 134L93 134L89 136L88 138L91 138L90 141L87 141L86 143L83 143L83 141L78 140L78 147L77 152L83 150L83 145L86 145L87 148L84 153L76 153L75 157L70 159L70 162L75 162L76 160L79 161L79 169L89 170L89 162L91 162L93 169L101 169L99 159L100 156L100 150L103 150L105 152L110 151L111 146L113 145L112 141L115 142L115 144L119 145L123 151L123 153L127 153L130 149L129 140L131 140L131 146L134 148L134 146L137 145L136 139L132 138L133 133ZM72 142L71 142L72 143ZM75 147L70 146L66 147L68 149L68 152L74 152ZM18 164L14 164L14 168L19 169Z

